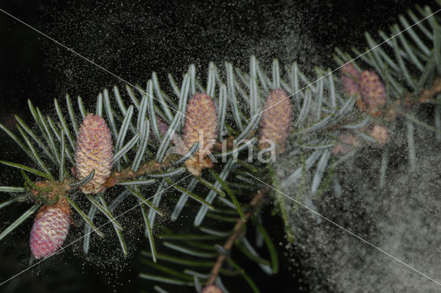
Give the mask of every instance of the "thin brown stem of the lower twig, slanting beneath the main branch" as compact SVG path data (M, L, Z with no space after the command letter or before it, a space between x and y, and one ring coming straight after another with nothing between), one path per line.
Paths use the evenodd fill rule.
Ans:
M256 207L258 206L260 201L263 199L263 196L265 194L267 194L267 192L269 192L269 190L270 190L269 187L265 186L264 188L261 188L260 190L258 190L258 192L256 192L256 194L254 194L251 203L249 203L251 205L251 207L250 207L249 211L245 214L245 220L242 218L239 218L236 221L236 225L234 225L232 234L229 235L227 241L225 241L225 244L223 245L223 248L227 252L229 252L232 249L234 241L236 241L237 237L239 236L240 230L241 230L243 224L245 224L247 222L247 220L249 219L249 217L252 216L252 214L256 210ZM207 286L213 285L214 281L216 280L216 277L219 274L219 270L222 267L225 259L227 259L227 257L228 256L225 254L220 254L218 256L216 263L214 263L211 276L206 283Z

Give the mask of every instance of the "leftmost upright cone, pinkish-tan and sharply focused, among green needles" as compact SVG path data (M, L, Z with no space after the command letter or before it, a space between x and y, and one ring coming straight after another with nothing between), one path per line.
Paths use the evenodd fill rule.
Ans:
M97 193L105 190L105 183L112 171L112 157L112 134L107 123L98 114L88 114L76 139L75 175L83 179L95 170L95 176L80 187L82 192Z

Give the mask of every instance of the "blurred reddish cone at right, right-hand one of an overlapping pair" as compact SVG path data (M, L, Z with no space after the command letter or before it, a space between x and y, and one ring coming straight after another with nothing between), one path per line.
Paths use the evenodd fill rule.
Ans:
M380 108L386 103L386 90L378 74L363 71L360 75L360 90L369 113L374 117L380 116Z

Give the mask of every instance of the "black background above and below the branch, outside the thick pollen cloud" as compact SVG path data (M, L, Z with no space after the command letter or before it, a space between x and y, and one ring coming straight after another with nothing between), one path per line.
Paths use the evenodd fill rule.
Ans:
M99 4L7 1L1 3L0 8L130 83L145 85L152 71L158 72L163 84L167 73L180 82L179 77L190 63L196 64L202 80L205 80L209 61L220 66L225 60L232 61L246 70L250 54L256 54L263 65L278 58L281 64L296 60L306 72L317 65L335 68L332 60L335 47L343 51L349 51L351 46L364 49L365 30L373 34L378 29L387 31L388 26L398 21L398 14L405 13L414 3L436 7L432 1L409 0L249 0ZM0 123L10 129L15 124L13 114L30 121L27 99L32 99L44 113L52 111L54 97L63 100L66 92L72 98L80 94L86 104L92 105L103 88L123 84L3 12L0 12L0 39ZM0 150L0 159L21 159L19 150L6 134L0 136ZM1 185L20 182L15 170L0 166L0 174ZM2 221L14 217L14 212L6 216L3 210L1 212ZM274 227L274 238L282 239L283 225L274 217L267 216L267 219L267 225ZM1 223L3 228L5 225ZM23 259L29 256L27 229L30 223L28 226L23 225L21 232L8 236L6 245L10 246L0 250L1 280L19 272ZM145 242L139 242L140 248L146 247ZM3 261L3 256L8 261ZM17 259L21 262L18 267L14 265ZM283 254L280 259L283 267L289 266ZM65 256L59 268L41 270L40 276L23 274L21 280L30 284L33 288L30 292L61 292L60 287L47 287L47 283L54 284L51 276L58 276L60 271L73 270L79 272L73 273L74 283L83 283L88 290L93 287L94 292L150 289L146 281L137 277L140 265L136 259L128 263L119 269L112 265L105 265L103 269L81 257ZM44 274L48 277L41 276ZM48 282L44 283L44 278ZM301 278L296 270L283 270L278 276L267 279L263 276L259 285L262 292L276 288L278 292L296 292L301 285L296 282ZM301 286L307 287L307 284Z

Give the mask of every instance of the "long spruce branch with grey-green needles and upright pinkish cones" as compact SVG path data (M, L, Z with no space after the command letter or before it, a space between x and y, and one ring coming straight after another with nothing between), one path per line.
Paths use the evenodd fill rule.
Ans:
M411 12L409 15L411 19L415 18ZM404 26L407 23L405 17L400 17L400 22ZM430 26L418 26L422 35L409 30L397 39L387 41L390 51L380 47L370 50L361 56L358 64L354 61L345 65L340 77L331 74L329 69L320 68L316 69L316 77L308 77L297 63L287 65L283 70L277 60L272 62L267 74L252 56L248 72L234 68L228 62L222 70L210 62L206 82L196 77L195 65L189 65L181 84L169 74L170 92L161 89L154 72L145 90L126 85L124 96L115 86L113 97L108 90L103 90L93 103L92 112L96 114L88 113L81 97L77 98L75 107L66 95L67 111L55 99L55 118L43 116L39 108L28 101L36 127L17 116L20 133L17 137L0 125L31 162L27 166L0 161L19 169L25 181L23 186L0 186L0 192L20 193L0 203L0 208L26 198L34 205L6 228L0 239L36 212L41 204L40 212L43 213L48 209L57 210L63 203L63 208L65 204L72 207L74 217L84 222L85 253L90 250L92 230L100 237L105 236L95 224L105 219L114 228L116 237L113 239L115 242L117 239L121 251L127 255L124 239L127 228L123 221L115 221L114 211L135 196L141 208L142 219L140 216L139 221L144 223L144 234L150 243L151 252L144 255L152 257L152 261L145 263L168 274L142 274L141 277L169 285L189 286L196 286L201 279L206 285L217 286L222 283L220 275L240 274L257 292L252 276L228 255L236 244L265 273L277 271L274 246L256 219L259 204L269 190L247 174L251 171L266 181L276 182L274 170L271 169L271 176L267 176L268 167L277 166L272 166L267 157L261 155L269 143L262 140L274 143L278 158L283 158L280 154L285 150L285 143L291 145L289 158L295 163L294 170L277 183L280 188L297 189L297 199L308 206L320 200L331 185L334 185L336 194L342 193L336 174L340 168L345 168L345 161L357 158L361 148L381 150L379 184L384 186L391 157L388 143L392 130L406 135L409 165L411 169L417 168L415 125L441 135L440 101L436 99L441 93L439 22L439 17L431 17ZM399 30L398 26L393 26L391 33L396 34ZM388 39L384 32L378 35ZM366 39L369 47L378 44L370 34L366 34ZM359 53L357 49L353 52ZM351 61L352 57L336 50L336 59L342 64ZM125 100L130 100L130 104ZM424 103L435 105L434 126L431 121L420 121L416 113L418 106ZM192 119L187 120L179 113ZM96 130L96 125L92 125L86 131L91 134L86 140L92 142L83 143L85 152L80 161L84 164L81 165L78 148L81 146L79 141L83 141L79 139L82 124L77 119L83 119L84 123L90 115L99 127ZM397 119L398 116L405 118L404 123L400 124L402 119ZM398 126L392 129L391 125ZM198 130L204 130L204 135ZM103 133L106 139L100 137ZM94 145L96 152L100 150L94 158L89 157L90 145ZM101 160L103 157L107 159ZM72 174L68 170L72 170ZM194 175L187 179L185 176L190 175L185 170ZM148 186L143 188L143 185ZM158 221L155 222L156 216L168 215L162 212L161 206L164 205L165 190L169 202L174 203L172 221L182 221L183 210L196 205L193 223L198 234L181 235L171 231L160 237L154 236L154 232L163 229ZM253 194L252 201L244 205L243 198L250 194ZM87 201L79 201L79 196ZM187 201L189 198L197 203ZM282 203L280 199L274 202ZM59 210L60 219L68 219L65 215L70 216L70 212ZM280 214L287 225L286 211L281 210ZM258 256L243 235L249 219L256 220L259 230L256 234L260 239L256 242L260 245L265 242L271 261ZM207 225L215 222L220 228ZM225 231L225 227L231 227L232 223L233 230ZM66 230L63 228L64 235ZM165 240L167 237L172 241L155 239ZM161 250L172 251L172 256L160 253L156 249L157 243ZM189 261L185 257L176 257L176 254L205 260ZM156 261L170 261L185 268L183 272L166 270L165 265L156 264ZM194 270L188 270L190 266ZM207 268L211 271L206 272ZM166 292L162 288L157 291Z

